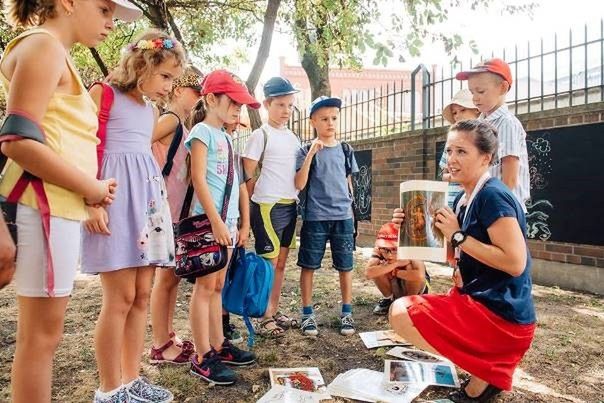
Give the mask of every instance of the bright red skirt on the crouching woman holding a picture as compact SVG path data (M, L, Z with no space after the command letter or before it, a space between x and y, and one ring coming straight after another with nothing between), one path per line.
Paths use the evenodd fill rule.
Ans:
M442 356L493 386L512 389L514 370L531 346L535 324L508 322L456 287L446 295L405 298L411 321Z

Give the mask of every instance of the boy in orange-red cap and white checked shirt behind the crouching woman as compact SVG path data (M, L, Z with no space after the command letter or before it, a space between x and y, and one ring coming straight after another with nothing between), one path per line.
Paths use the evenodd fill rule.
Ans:
M497 129L498 158L491 166L491 176L510 188L526 212L525 203L531 197L526 132L505 104L506 94L512 86L510 66L501 59L490 59L455 77L468 80L474 105L481 112L480 118Z

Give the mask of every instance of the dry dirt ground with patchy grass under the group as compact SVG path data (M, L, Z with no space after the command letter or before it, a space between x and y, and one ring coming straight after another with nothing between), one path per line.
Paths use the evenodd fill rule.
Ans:
M354 317L357 332L387 329L385 318L371 311L379 295L362 276L368 249L358 249L354 271ZM288 262L282 310L297 315L300 309L296 253ZM433 289L443 292L450 285L448 269L430 265ZM238 369L241 380L231 387L211 387L188 374L188 366L154 367L146 361L143 372L168 387L178 402L255 402L269 388L269 367L316 366L327 383L353 368L383 370L385 350L367 350L358 335L338 333L340 294L337 273L320 270L315 277L314 301L320 322L317 338L290 330L279 341L260 339L255 347L258 364ZM190 336L187 301L191 287L183 283L177 306L176 328ZM534 287L538 327L533 347L516 373L514 391L497 402L604 402L604 299L592 295ZM93 328L100 309L98 278L80 277L70 302L65 337L54 368L53 401L90 402L97 387ZM42 313L40 313L42 314ZM244 329L239 319L235 320ZM10 364L15 348L16 307L14 289L0 292L0 402L10 398ZM150 331L147 346L150 345ZM35 360L35 352L32 352ZM460 373L460 375L465 376ZM430 400L446 397L449 389L429 387L420 396ZM335 400L348 401L345 399Z

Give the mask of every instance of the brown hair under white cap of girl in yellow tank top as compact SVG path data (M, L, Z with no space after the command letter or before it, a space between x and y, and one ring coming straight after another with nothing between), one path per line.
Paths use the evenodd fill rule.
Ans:
M13 28L43 24L57 15L55 0L5 0L4 13Z

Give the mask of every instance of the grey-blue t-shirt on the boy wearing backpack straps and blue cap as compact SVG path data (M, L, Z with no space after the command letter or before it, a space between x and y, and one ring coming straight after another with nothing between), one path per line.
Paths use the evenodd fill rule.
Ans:
M306 154L308 150L305 147L298 150L296 171L304 164ZM348 191L346 156L342 145L338 142L332 147L323 147L313 158L306 185L304 220L330 221L352 218L352 198ZM352 173L359 172L354 154L351 168Z

